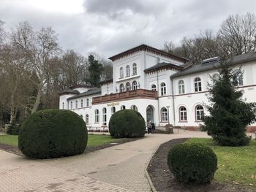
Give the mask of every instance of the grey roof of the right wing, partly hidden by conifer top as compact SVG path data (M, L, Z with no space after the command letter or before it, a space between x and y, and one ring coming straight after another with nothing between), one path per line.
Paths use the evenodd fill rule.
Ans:
M243 64L249 61L256 61L256 52L237 55L233 58L231 64L233 65ZM189 66L187 67L187 69L181 70L176 74L172 74L170 77L181 77L187 74L194 74L197 72L206 72L208 70L217 69L219 67L220 67L219 61L215 61L209 64L198 64L195 66Z

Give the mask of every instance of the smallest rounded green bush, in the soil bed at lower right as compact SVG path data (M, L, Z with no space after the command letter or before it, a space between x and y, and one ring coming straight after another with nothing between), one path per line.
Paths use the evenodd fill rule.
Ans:
M167 164L181 183L211 183L217 156L206 145L184 143L170 149Z

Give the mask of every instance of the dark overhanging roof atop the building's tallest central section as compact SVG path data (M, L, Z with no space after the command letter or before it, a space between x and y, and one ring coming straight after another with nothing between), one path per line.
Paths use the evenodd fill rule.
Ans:
M182 58L182 57L179 57L177 55L173 55L173 54L167 53L167 52L165 52L163 50L158 50L157 48L154 48L154 47L151 47L151 46L148 46L148 45L145 45L145 44L139 45L137 47L133 47L133 48L131 48L129 50L126 50L126 51L124 51L122 53L118 53L117 55L113 55L109 59L112 60L112 61L115 61L118 58L125 57L127 55L130 55L132 53L135 53L135 52L138 52L138 51L141 51L141 50L148 50L149 52L157 53L157 54L163 55L163 56L165 56L167 58L173 58L173 59L181 61L183 63L188 61L187 58Z

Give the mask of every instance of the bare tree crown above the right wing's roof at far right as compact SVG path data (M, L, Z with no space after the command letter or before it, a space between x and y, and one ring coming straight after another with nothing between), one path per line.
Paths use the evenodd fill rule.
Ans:
M241 55L256 50L256 15L230 15L221 25L218 41L222 52Z

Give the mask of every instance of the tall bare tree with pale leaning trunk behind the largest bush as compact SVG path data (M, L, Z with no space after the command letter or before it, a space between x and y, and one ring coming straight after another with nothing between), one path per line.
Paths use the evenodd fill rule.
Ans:
M37 96L31 107L31 113L34 113L39 107L48 70L50 70L47 61L59 50L56 32L51 28L33 31L29 23L20 23L15 31L12 31L12 44L23 51L27 61L24 67L25 75L37 86ZM32 72L37 74L38 81L31 77Z

